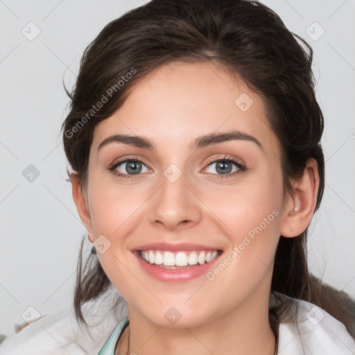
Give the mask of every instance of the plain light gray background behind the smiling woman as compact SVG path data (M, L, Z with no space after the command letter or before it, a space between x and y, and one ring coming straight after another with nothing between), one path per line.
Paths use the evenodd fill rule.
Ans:
M263 2L315 52L326 188L309 228L309 263L324 282L355 298L355 1ZM0 333L7 336L29 306L44 315L71 304L85 228L65 181L59 130L69 99L62 79L70 88L89 42L142 4L0 0ZM23 28L27 36L38 31L31 21L40 34L28 40Z

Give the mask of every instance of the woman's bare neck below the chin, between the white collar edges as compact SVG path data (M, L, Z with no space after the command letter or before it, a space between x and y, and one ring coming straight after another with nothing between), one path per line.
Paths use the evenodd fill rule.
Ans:
M248 297L228 313L198 327L160 327L128 307L130 325L115 355L274 355L275 335L268 318L268 302ZM129 335L129 344L128 344Z

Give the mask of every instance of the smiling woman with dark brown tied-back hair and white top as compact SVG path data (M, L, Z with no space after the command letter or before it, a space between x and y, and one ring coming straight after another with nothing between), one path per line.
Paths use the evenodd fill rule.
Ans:
M102 319L128 312L71 354L355 353L306 263L324 189L311 62L246 0L153 0L88 46L62 127L94 243L74 309L80 326L103 295Z

